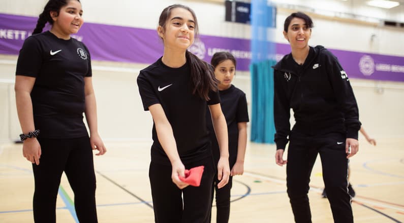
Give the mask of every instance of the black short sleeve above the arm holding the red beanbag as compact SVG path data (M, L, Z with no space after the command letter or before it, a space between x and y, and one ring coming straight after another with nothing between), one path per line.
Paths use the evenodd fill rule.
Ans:
M140 72L137 78L137 84L139 87L139 94L142 98L143 109L149 110L149 106L153 104L159 104L160 100L156 93L153 91L151 83L147 80L144 73Z

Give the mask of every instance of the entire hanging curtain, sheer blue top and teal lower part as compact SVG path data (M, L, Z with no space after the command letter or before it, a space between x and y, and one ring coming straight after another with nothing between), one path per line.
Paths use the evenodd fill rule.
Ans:
M273 143L273 69L276 8L267 0L251 2L251 141Z

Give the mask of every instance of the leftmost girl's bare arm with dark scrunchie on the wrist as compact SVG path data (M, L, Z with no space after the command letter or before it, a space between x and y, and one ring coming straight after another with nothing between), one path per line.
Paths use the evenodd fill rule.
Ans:
M35 130L31 91L36 78L17 75L15 77L15 100L21 130L24 134ZM22 145L22 155L31 163L39 165L41 145L37 138L27 138Z

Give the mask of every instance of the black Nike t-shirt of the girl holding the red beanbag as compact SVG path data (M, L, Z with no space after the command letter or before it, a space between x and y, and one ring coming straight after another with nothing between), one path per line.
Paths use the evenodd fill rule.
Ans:
M140 71L137 83L144 110L148 110L153 104L162 105L173 129L178 154L183 163L211 156L205 111L208 104L220 103L219 92L210 91L209 101L192 94L188 61L181 67L171 68L160 58ZM154 124L152 138L151 161L170 165Z

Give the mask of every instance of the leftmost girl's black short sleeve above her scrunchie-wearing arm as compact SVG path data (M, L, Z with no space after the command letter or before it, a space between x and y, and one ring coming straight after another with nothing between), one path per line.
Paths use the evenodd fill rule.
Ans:
M34 36L29 36L22 45L17 60L16 75L37 78L42 66L42 49Z

